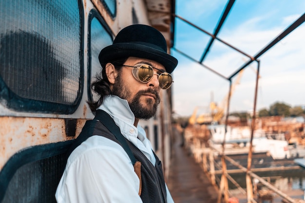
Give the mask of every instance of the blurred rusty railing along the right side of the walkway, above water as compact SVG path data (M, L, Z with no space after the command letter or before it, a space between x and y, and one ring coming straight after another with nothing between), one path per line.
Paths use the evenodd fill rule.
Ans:
M206 147L206 142L203 139L200 139L202 136L198 136L198 133L202 133L202 129L186 129L185 131L185 146L188 150L190 150L191 154L193 155L195 161L200 164L203 168L203 171L209 175L210 181L213 185L216 184L216 180L219 187L219 195L217 203L221 203L223 200L224 203L228 203L229 201L229 188L228 188L228 179L229 181L234 184L243 195L247 195L248 203L257 203L253 198L253 183L255 183L255 179L257 179L262 185L265 185L270 191L273 191L278 196L283 198L282 202L285 203L305 203L302 200L296 200L284 192L276 188L275 186L268 183L264 178L256 175L251 171L251 169L247 169L246 167L240 165L230 157L226 156L222 151L212 148ZM215 154L219 154L221 156L221 165L215 162L214 156ZM246 174L246 184L247 184L247 191L242 188L228 173L226 162L228 161L232 165L238 167L239 172ZM217 168L218 170L215 170ZM297 169L300 168L299 166L290 166L290 169ZM276 168L275 168L276 169ZM270 168L268 168L270 170ZM235 171L236 172L236 171ZM221 179L216 176L217 174L222 174ZM251 188L250 190L248 188ZM254 184L254 190L255 190ZM257 192L257 191L255 191ZM265 194L266 197L268 194ZM260 197L259 198L264 198ZM271 197L272 198L272 197ZM265 199L267 200L267 199Z

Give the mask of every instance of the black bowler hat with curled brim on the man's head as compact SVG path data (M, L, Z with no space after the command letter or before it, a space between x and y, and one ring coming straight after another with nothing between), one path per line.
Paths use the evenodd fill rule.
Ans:
M130 56L159 62L168 73L172 73L178 64L175 57L167 54L163 35L148 25L136 24L122 29L115 37L113 45L102 49L98 59L103 65L112 60Z

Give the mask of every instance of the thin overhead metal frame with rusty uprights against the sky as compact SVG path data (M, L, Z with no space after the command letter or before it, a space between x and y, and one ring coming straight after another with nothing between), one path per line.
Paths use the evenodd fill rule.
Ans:
M255 84L255 92L254 92L254 105L253 105L253 117L252 117L252 122L251 122L251 138L250 138L250 148L249 148L249 153L248 153L248 166L247 166L247 175L246 175L246 182L247 182L247 197L248 197L248 203L252 202L253 200L253 191L252 191L252 183L251 183L251 177L253 177L253 173L250 171L251 168L251 161L252 161L252 140L253 140L253 131L255 129L255 112L256 112L256 102L257 102L257 92L258 92L258 79L259 79L259 71L260 71L260 60L259 57L263 54L265 54L270 48L272 48L275 44L277 44L279 41L281 41L284 37L286 37L287 35L289 35L293 30L295 30L298 26L300 26L304 21L305 21L305 13L298 19L296 19L290 26L288 26L280 35L278 35L277 37L275 37L269 44L267 44L265 47L262 48L261 51L259 51L256 55L251 56L248 55L247 53L239 50L238 48L232 46L231 44L229 44L228 42L220 39L217 37L217 34L219 33L223 23L225 22L226 18L228 17L228 14L234 4L235 0L229 0L225 10L222 13L222 16L219 18L218 24L216 26L216 29L214 31L213 34L207 32L206 30L196 26L195 24L191 23L190 21L176 15L175 13L172 14L173 18L172 18L172 25L173 25L173 29L174 29L174 21L175 18L179 18L181 20L183 20L184 22L188 23L189 25L191 25L192 27L200 30L201 32L209 35L210 38L210 42L208 43L208 45L205 48L205 51L203 52L203 55L201 56L201 59L198 61L194 58L192 58L190 55L185 54L184 52L176 49L174 47L174 33L172 34L172 49L175 50L176 52L180 53L181 55L184 55L185 57L191 59L194 62L199 63L200 65L202 65L204 68L210 70L211 72L213 72L214 74L219 75L220 77L229 80L229 96L228 96L228 107L227 107L227 114L226 114L226 121L225 121L225 128L227 129L227 124L228 124L228 117L229 117L229 102L230 102L230 97L231 97L231 88L232 88L232 78L238 74L239 72L241 72L243 69L245 69L246 67L248 67L248 65L250 65L253 61L257 62L257 72L256 72L256 84ZM173 10L174 11L174 10ZM212 68L208 67L207 65L205 65L204 59L207 56L207 54L210 51L210 47L213 44L214 40L218 40L220 42L222 42L223 44L229 46L230 48L234 49L235 51L247 56L249 58L249 60L247 62L245 62L241 67L239 67L237 69L237 71L235 71L234 73L232 73L229 77L224 76L221 73L216 72L215 70L213 70ZM226 136L226 135L225 135ZM226 163L225 163L225 156L224 156L224 146L225 146L225 140L226 137L224 137L224 141L223 141L223 155L222 155L222 163L223 163L223 175L222 175L222 180L220 184L220 193L219 193L219 198L218 198L218 203L220 203L221 201L221 196L224 197L225 202L228 202L228 191L226 191L226 188L228 188L228 181L226 178ZM289 202L293 202L293 200L289 199Z

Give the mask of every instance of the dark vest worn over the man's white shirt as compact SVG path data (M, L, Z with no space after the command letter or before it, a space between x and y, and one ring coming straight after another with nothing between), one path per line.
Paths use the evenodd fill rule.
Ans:
M131 158L133 165L135 161L141 163L142 187L140 197L143 203L167 203L161 161L153 153L156 159L155 166L153 166L147 157L120 133L114 120L105 111L97 110L94 120L86 122L76 141L69 149L68 156L77 146L93 135L106 137L121 145Z

